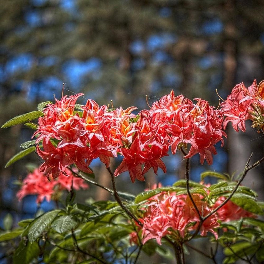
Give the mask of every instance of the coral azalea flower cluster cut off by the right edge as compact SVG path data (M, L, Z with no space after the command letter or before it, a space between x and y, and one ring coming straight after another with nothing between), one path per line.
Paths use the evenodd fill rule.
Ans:
M264 81L257 85L256 80L246 88L243 83L237 84L227 100L221 103L221 111L225 116L224 129L232 122L235 131L240 128L246 131L245 121L252 120L252 127L263 133L264 126Z

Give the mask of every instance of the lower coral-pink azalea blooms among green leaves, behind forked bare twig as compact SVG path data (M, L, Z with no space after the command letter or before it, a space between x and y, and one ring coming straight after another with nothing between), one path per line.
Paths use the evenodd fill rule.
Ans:
M204 197L198 194L193 194L192 199L200 215L206 216L222 204L226 198L219 197L212 205L208 204ZM143 226L137 225L138 232L141 231L143 244L154 238L161 245L161 239L166 235L179 235L184 238L186 233L198 228L200 218L187 194L176 195L174 192L162 192L148 200L142 208L143 217L139 219ZM229 200L203 221L200 227L200 235L206 236L210 232L217 239L216 229L219 228L220 222L239 220L244 217L255 217L255 215ZM132 242L138 244L136 232L130 234L130 243Z

